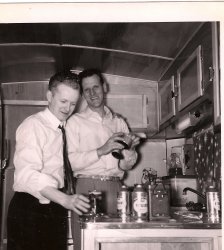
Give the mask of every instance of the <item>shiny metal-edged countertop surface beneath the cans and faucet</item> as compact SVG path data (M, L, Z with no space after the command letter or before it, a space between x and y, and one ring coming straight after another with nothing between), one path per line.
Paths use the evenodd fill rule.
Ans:
M221 223L209 223L206 217L199 219L183 217L156 218L150 221L134 221L131 217L98 216L81 218L82 229L221 229Z

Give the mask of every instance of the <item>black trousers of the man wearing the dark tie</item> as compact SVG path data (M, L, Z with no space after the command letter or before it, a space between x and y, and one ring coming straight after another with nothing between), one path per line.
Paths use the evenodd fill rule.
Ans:
M16 192L7 217L7 250L66 250L67 210L50 202L40 204Z

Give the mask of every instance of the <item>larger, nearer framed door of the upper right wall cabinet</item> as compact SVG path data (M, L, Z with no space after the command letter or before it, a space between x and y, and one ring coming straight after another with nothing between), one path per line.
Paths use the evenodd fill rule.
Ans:
M201 46L199 45L177 70L179 111L203 94L201 60Z

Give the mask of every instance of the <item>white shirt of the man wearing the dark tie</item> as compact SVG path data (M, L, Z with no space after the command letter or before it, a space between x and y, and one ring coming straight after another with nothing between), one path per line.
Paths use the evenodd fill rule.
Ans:
M16 131L13 188L33 195L40 203L50 202L40 194L44 187L64 186L59 125L61 122L46 108L26 118Z

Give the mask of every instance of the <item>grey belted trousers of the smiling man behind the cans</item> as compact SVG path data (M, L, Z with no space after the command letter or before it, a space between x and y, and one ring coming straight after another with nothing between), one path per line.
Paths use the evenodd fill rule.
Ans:
M107 215L116 215L117 213L117 192L120 191L120 181L101 181L91 178L76 180L76 193L88 194L89 191L97 190L102 192L102 201L99 203L98 212ZM74 250L81 249L81 229L79 216L72 213ZM90 249L91 250L91 249Z

